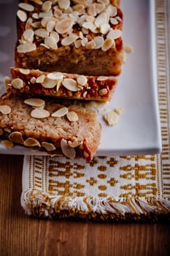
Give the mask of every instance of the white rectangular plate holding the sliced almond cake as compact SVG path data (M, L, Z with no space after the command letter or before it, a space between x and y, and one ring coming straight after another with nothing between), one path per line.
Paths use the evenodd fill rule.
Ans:
M3 1L1 1L2 3ZM9 12L13 10L13 13ZM158 111L158 86L155 51L154 0L122 1L123 40L134 48L127 54L117 89L109 104L103 108L123 108L117 124L109 127L103 121L98 155L156 154L161 151L161 129ZM0 4L0 82L9 75L14 65L16 42L15 13L18 6L13 0ZM6 15L7 13L7 15ZM9 15L11 17L9 18ZM8 17L8 18L7 18ZM0 87L0 93L1 93ZM22 146L7 149L0 144L0 154L43 154Z

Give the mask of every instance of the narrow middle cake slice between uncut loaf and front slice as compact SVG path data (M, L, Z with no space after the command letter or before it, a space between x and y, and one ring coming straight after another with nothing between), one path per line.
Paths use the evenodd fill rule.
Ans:
M74 75L61 72L41 72L11 68L12 81L7 91L67 99L106 101L115 90L117 78Z

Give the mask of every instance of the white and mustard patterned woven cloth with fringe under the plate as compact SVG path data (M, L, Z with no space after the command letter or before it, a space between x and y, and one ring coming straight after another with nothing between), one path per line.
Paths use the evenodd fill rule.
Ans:
M94 157L26 156L21 205L36 217L157 219L170 216L169 1L155 4L162 153Z

